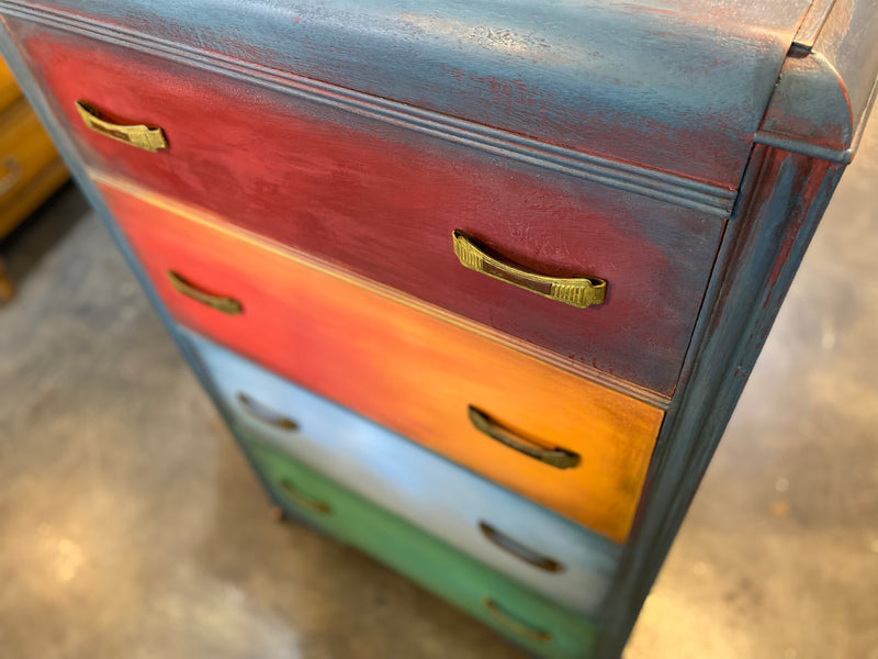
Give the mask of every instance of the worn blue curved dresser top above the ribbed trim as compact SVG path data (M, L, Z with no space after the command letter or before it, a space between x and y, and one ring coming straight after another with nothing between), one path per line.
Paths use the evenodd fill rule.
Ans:
M40 4L733 188L810 1Z

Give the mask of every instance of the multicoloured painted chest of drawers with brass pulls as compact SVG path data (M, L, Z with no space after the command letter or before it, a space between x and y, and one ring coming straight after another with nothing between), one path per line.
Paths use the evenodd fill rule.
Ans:
M0 0L272 500L618 656L878 72L866 1Z

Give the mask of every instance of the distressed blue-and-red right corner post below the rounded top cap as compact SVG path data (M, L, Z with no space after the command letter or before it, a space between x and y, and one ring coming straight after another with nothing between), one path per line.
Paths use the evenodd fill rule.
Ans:
M772 158L786 158L778 180L763 171ZM820 166L826 171L814 169ZM767 145L751 155L735 221L723 238L683 378L656 440L648 495L622 551L595 659L621 656L843 171L841 164ZM799 193L803 179L819 181L811 197ZM800 226L789 247L784 241L793 231L793 217Z

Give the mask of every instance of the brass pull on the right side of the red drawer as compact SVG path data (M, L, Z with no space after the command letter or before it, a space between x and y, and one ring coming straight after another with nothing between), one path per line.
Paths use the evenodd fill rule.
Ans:
M550 300L585 309L604 302L607 282L596 277L548 277L488 254L488 248L460 230L451 233L454 254L471 270L482 272Z

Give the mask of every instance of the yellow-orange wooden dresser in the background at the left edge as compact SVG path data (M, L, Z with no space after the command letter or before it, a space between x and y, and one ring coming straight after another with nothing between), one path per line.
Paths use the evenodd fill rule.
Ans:
M67 180L48 135L0 60L0 241ZM0 302L13 294L0 260Z

